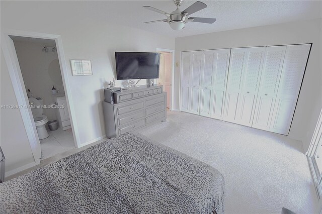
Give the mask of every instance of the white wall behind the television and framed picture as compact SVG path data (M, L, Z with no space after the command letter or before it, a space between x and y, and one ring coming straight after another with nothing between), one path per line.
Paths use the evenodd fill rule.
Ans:
M11 2L1 1L1 31L15 29L21 31L41 32L61 35L63 50L68 70L68 83L71 88L71 98L75 108L73 120L78 126L81 144L105 136L103 110L101 101L103 87L107 82L116 77L115 51L142 51L155 52L156 48L174 49L175 39L160 36L126 26L105 24L91 20L74 9L76 1L43 1L43 2ZM52 16L48 10L54 12ZM107 18L108 19L108 18ZM92 60L93 75L72 76L70 71L70 59ZM4 62L2 60L2 62ZM1 71L2 72L2 71ZM141 81L144 84L144 81ZM10 81L3 83L2 87L7 94L13 94L9 87ZM121 86L121 82L117 84ZM1 122L9 123L9 118L14 112L8 111L8 117ZM16 127L22 126L22 122L14 120ZM10 136L17 135L14 130L8 130L6 137L1 136L1 143L5 144ZM22 136L23 138L23 136ZM28 142L27 137L17 144L23 146ZM7 151L11 155L18 154L13 149ZM21 163L25 164L25 163Z

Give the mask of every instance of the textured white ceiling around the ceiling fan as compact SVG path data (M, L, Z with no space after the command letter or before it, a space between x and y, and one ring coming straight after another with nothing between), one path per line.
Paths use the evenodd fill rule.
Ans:
M183 11L195 1L184 1ZM181 31L172 30L167 23L143 24L146 21L165 19L165 16L143 9L151 6L171 13L176 9L173 1L107 1L85 2L92 18L108 19L120 25L182 37L240 28L272 25L322 18L321 1L202 1L208 7L196 12L193 17L217 18L214 24L188 23ZM88 11L89 12L89 11Z

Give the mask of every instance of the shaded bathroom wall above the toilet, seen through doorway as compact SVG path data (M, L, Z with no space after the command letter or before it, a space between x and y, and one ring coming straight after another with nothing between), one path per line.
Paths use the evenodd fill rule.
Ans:
M62 77L59 68L58 55L55 52L43 52L42 46L55 46L54 40L48 42L29 42L14 40L21 73L26 91L31 90L34 97L44 100L44 105L52 104L51 88L63 92ZM56 120L55 109L44 109L48 120Z

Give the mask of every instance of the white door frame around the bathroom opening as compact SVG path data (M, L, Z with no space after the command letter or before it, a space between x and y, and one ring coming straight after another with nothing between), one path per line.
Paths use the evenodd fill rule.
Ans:
M73 120L76 117L75 117L74 105L71 97L71 89L68 81L68 71L67 71L67 65L66 65L65 55L63 51L62 40L60 35L29 32L29 31L18 31L18 30L12 30L12 29L5 29L1 33L1 37L2 37L1 49L3 50L3 53L4 53L10 79L13 84L15 95L17 98L18 106L23 106L23 108L19 108L19 111L21 113L23 123L26 129L26 133L28 136L29 144L37 165L37 164L40 164L39 159L41 158L40 140L38 138L35 122L32 120L33 116L31 113L31 109L27 107L29 106L29 101L28 101L28 96L25 89L25 83L24 83L20 65L18 62L15 45L13 40L10 38L10 36L21 36L21 37L32 37L32 38L38 38L38 39L55 40L63 86L65 90L66 100L68 103L67 108L70 116L70 123L73 131L72 133L74 137L75 147L79 148L81 147L81 143L80 143L81 141L79 139L79 133L78 133L76 121ZM26 165L26 168L29 168L29 167L30 166ZM21 169L21 170L24 170L24 169Z

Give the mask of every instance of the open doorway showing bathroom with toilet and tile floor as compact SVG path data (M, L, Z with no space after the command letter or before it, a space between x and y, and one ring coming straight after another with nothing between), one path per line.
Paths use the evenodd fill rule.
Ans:
M53 39L10 36L17 54L41 159L75 147L63 78Z

